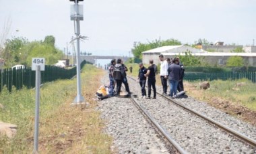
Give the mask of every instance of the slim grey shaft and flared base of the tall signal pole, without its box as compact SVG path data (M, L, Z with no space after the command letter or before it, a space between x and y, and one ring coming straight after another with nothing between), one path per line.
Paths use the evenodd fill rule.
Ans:
M75 3L75 12L76 12L76 15L78 13L78 10L77 10L77 7L78 7L78 3L77 3L77 0L76 0L76 3ZM75 22L76 22L76 37L77 37L77 51L76 51L76 72L77 72L77 96L75 98L75 100L73 101L74 103L79 103L79 102L84 102L84 97L82 96L82 93L81 93L81 76L80 76L80 39L79 39L79 35L80 35L80 25L79 25L79 19L77 19L77 17L75 18Z

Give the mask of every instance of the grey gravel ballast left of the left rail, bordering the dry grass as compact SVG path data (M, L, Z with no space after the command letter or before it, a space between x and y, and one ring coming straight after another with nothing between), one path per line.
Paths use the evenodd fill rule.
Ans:
M102 82L108 82L106 76ZM130 98L108 98L100 101L97 109L102 112L102 119L106 121L104 130L113 137L114 152L175 153Z

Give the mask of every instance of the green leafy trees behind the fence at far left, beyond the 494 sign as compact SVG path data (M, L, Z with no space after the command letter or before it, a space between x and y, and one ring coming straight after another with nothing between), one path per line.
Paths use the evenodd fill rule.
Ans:
M46 64L57 63L63 57L61 50L55 48L55 37L46 36L44 41L28 42L24 37L13 37L6 40L5 48L0 57L5 60L5 67L10 68L15 64L31 65L33 57L46 58Z

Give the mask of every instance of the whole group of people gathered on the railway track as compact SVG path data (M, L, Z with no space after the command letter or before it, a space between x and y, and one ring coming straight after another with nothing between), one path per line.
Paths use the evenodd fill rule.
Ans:
M160 79L162 83L163 93L166 96L171 96L172 98L177 98L177 90L183 92L183 77L184 77L184 66L179 61L179 57L167 58L164 60L164 56L161 54L159 56L160 60ZM153 88L153 99L156 99L156 74L158 72L158 67L154 64L153 60L150 60L150 66L146 68L142 63L139 63L139 74L137 77L137 82L141 86L141 97L146 99L151 99L151 88ZM132 72L132 68L129 68ZM109 86L108 86L108 97L119 96L121 92L122 83L125 84L125 90L130 94L129 84L127 81L128 68L123 64L123 60L118 59L117 61L111 60L111 64L108 67L109 76ZM146 92L146 82L148 80L148 96ZM170 94L167 94L167 80L170 85ZM117 90L115 90L115 86ZM103 88L105 86L102 86ZM99 89L102 91L103 88ZM100 92L102 93L102 92Z

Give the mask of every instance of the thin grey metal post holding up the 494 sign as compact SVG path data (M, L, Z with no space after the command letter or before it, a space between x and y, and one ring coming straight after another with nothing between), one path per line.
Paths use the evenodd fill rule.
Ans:
M36 108L35 108L35 118L34 118L34 151L33 153L38 153L40 81L41 81L40 66L36 66Z

